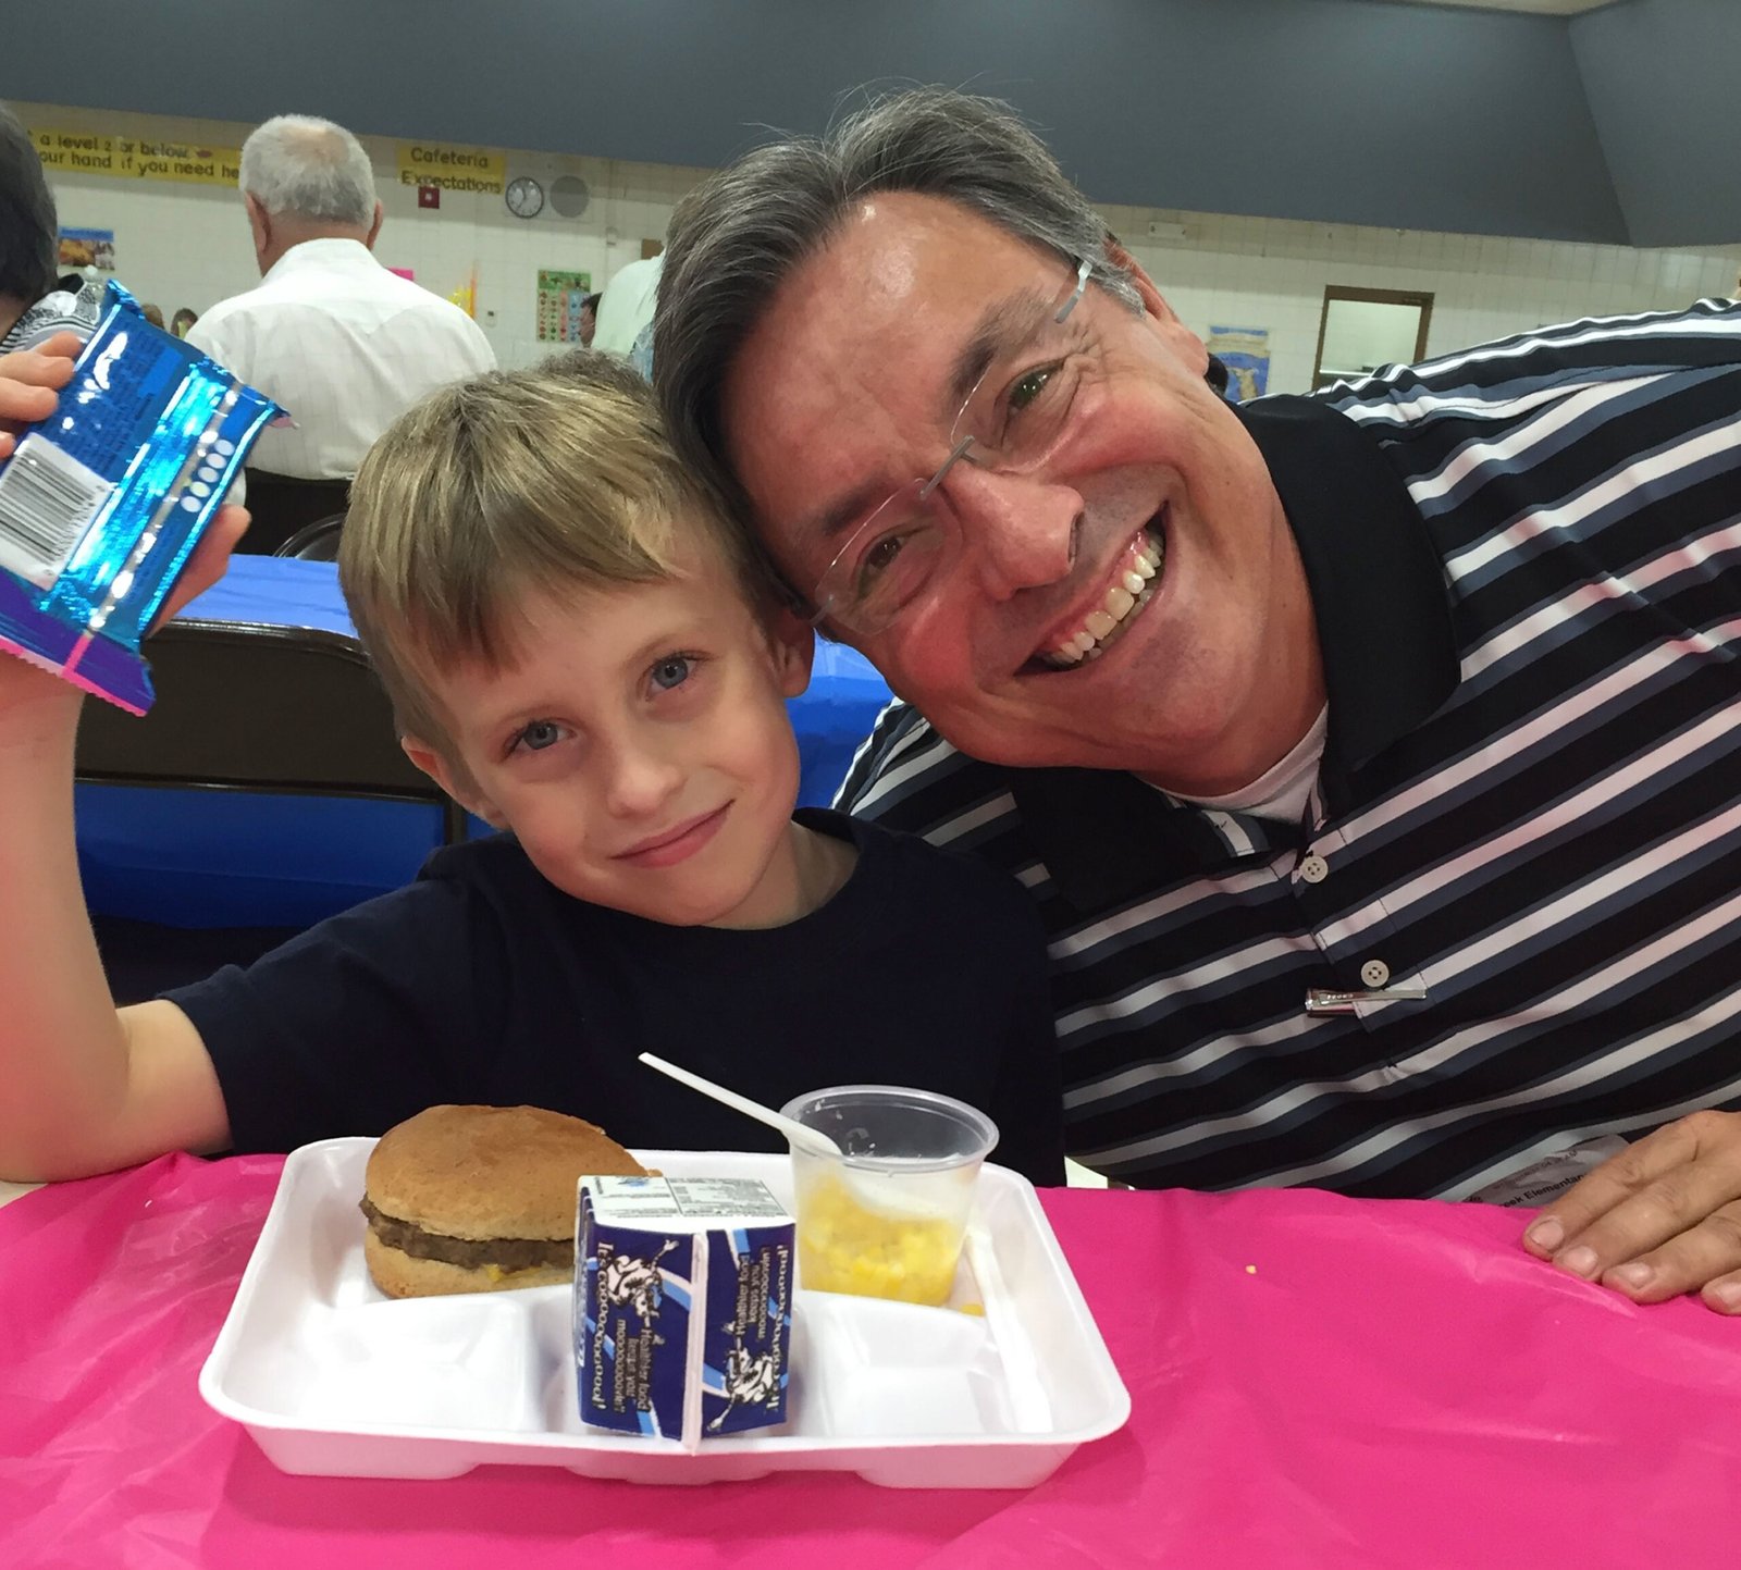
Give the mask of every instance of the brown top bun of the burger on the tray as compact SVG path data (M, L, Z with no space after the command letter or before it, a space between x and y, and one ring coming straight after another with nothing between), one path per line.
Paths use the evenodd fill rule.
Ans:
M364 1192L376 1210L447 1238L575 1236L585 1173L646 1168L604 1130L541 1107L430 1107L381 1135Z

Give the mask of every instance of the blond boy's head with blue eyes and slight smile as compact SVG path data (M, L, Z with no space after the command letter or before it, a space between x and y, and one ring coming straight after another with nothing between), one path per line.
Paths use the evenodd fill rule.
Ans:
M404 414L339 543L411 761L564 893L676 926L797 914L811 637L761 573L651 386L585 350Z

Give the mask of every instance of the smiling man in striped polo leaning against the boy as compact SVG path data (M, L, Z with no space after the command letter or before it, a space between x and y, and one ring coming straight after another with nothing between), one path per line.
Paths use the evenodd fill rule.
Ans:
M1529 1246L1741 1311L1741 312L1212 369L982 99L670 228L676 440L911 705L846 802L1036 898L1071 1154L1466 1198L1637 1138Z

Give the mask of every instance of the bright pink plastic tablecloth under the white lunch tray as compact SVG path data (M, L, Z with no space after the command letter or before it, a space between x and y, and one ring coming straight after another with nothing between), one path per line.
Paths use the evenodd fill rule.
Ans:
M1478 1206L1055 1191L1130 1424L1041 1486L279 1473L195 1389L280 1161L0 1210L0 1567L1699 1567L1741 1539L1741 1323Z

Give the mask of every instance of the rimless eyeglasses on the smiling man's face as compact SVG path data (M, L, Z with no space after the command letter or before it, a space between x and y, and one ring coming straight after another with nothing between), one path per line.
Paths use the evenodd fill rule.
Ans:
M1092 261L1076 263L1039 331L992 357L956 414L937 472L902 486L853 529L811 590L811 625L829 620L855 637L884 632L954 547L958 526L938 491L949 470L966 460L996 473L1031 473L1057 451L1085 364L1074 336L1060 329L1092 275Z

